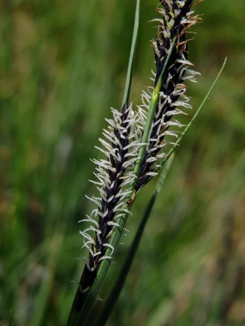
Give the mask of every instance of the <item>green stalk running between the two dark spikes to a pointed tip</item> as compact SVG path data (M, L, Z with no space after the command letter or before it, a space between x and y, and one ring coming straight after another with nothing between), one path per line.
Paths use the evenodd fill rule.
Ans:
M140 169L141 161L142 161L142 158L143 158L143 155L145 152L146 143L148 142L148 139L149 139L149 134L151 131L155 108L156 108L156 105L158 102L159 91L161 88L162 76L163 76L164 72L166 71L167 64L168 64L170 56L171 56L171 52L173 51L173 48L175 45L175 40L176 40L176 38L174 38L173 43L170 46L168 56L164 63L161 74L159 76L158 82L153 90L152 99L151 99L150 107L149 107L148 118L146 120L146 125L145 125L145 129L144 129L143 137L142 137L142 144L140 146L137 161L135 164L135 169L134 169L135 178L133 179L133 181L130 184L129 194L125 201L125 205L122 207L122 211L125 211L125 214L120 216L117 219L116 223L118 224L118 227L114 228L111 238L110 238L110 241L109 241L109 245L114 248L114 254L117 249L119 239L121 237L122 231L124 230L126 221L128 219L128 215L130 213L132 204L135 199L135 195L136 195L136 193L134 191L135 183L138 178L139 169ZM130 204L128 204L128 203L130 203ZM109 249L107 249L105 255L110 256L110 253L111 253L111 250L109 248ZM72 326L80 326L80 325L85 324L86 320L88 319L89 313L92 309L92 304L93 304L94 300L96 299L97 293L105 279L105 276L106 276L106 273L108 271L110 264L111 264L111 259L102 260L100 267L97 271L96 278L94 279L93 284L90 286L88 291L82 293L80 291L80 288L78 288L75 299L74 299L74 303L72 304L72 307L71 307L67 326L71 326L71 325ZM84 274L81 277L80 284L82 284L83 278L84 278Z

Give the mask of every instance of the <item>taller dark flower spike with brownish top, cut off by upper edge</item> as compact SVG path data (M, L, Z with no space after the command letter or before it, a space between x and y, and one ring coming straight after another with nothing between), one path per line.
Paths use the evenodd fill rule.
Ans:
M170 126L182 127L178 120L173 120L173 116L185 114L180 107L191 108L188 103L189 98L185 95L187 87L185 80L197 82L196 75L199 72L190 69L193 66L188 61L188 49L186 34L190 33L189 29L195 23L201 20L198 15L193 15L191 10L193 0L161 0L161 7L157 9L163 18L156 18L152 21L158 22L157 37L152 41L156 61L156 73L154 73L154 83L158 82L163 65L166 61L167 54L171 43L176 37L176 45L171 54L168 68L162 77L162 85L159 93L158 105L156 107L153 119L152 129L142 160L138 180L136 182L136 192L140 187L145 185L151 177L155 176L156 169L160 164L160 159L165 153L161 149L167 144L164 140L166 135L178 138L174 131L169 131ZM151 101L151 88L148 92L141 95L142 105L138 106L139 124L144 129L146 116ZM173 144L173 143L171 143Z

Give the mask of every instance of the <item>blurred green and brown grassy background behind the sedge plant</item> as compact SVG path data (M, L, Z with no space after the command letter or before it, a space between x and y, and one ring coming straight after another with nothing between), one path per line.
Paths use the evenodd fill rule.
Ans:
M131 98L150 85L157 0L142 0ZM83 263L78 221L94 149L119 108L135 1L0 3L0 325L65 325ZM178 149L108 325L245 324L244 0L206 0L189 47L202 73ZM193 112L189 112L189 117ZM188 121L188 120L186 120ZM155 180L137 198L100 296L105 300ZM89 325L103 303L97 302Z

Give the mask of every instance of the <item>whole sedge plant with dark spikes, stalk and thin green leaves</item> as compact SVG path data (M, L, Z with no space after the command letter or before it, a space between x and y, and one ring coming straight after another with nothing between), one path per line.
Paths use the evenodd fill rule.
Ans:
M193 33L192 27L201 21L200 16L195 15L193 10L194 5L201 1L160 1L157 7L159 17L152 20L157 23L156 37L152 40L156 70L153 72L152 85L142 92L142 103L134 107L133 103L129 102L129 92L139 20L140 2L137 0L122 107L119 111L111 108L112 117L106 119L108 127L102 132L103 138L99 139L101 147L96 146L102 156L99 159L91 159L95 171L94 179L90 182L95 185L97 195L87 196L95 206L92 212L80 221L83 225L87 224L80 233L83 237L83 247L88 250L88 257L82 258L85 266L67 325L78 326L86 323L115 256L128 216L132 214L131 208L138 192L158 175L200 112L217 81L219 75L190 124L179 135L175 129L183 125L176 117L186 114L186 110L191 108L186 94L186 81L195 83L196 77L200 75L193 70L193 64L188 60L188 43L191 40L189 35ZM171 146L168 152L165 150L167 144ZM152 206L150 211L151 209ZM150 211L148 206L146 216L150 215ZM141 224L140 233L136 234L135 246L142 235L144 225L145 222ZM133 252L135 254L135 251ZM132 263L130 257L127 259ZM117 284L120 283L122 286L124 282L120 282L119 278ZM117 297L121 287L115 288ZM112 297L113 295L112 293ZM104 320L108 315L106 309ZM100 320L97 324L100 324Z

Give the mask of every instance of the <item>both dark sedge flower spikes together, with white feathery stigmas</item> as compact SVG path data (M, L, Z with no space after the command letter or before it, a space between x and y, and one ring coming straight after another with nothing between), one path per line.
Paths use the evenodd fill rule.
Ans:
M191 26L201 19L194 15L191 9L198 2L161 0L157 8L162 17L153 20L158 23L156 39L152 41L156 62L154 87L158 83L170 47L174 46L161 76L159 98L138 176L133 173L134 165L141 146L154 87L143 91L142 104L138 105L135 111L132 104L128 106L125 103L120 112L112 109L113 119L106 119L109 126L103 131L104 139L100 139L102 148L97 147L105 158L92 160L96 165L94 173L96 180L91 182L95 184L100 196L88 197L96 204L96 208L86 216L86 219L80 221L89 223L88 228L80 231L84 237L84 247L89 251L82 291L89 289L100 262L113 257L114 248L109 244L109 239L113 229L118 227L117 219L128 213L125 201L129 184L137 178L134 190L138 192L157 174L156 170L161 165L161 159L166 155L163 150L167 144L165 136L178 137L178 134L169 128L182 126L173 117L185 114L183 108L191 108L189 98L185 94L187 87L184 83L185 80L196 82L195 76L199 73L191 69L192 64L188 61L187 34L190 33ZM106 254L108 249L110 255Z

